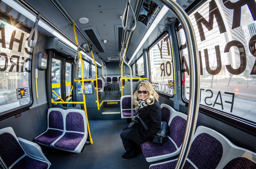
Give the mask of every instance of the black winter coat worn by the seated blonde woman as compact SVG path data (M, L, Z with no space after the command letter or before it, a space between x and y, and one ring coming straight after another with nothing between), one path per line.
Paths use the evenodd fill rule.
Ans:
M146 130L143 124L139 122L131 129L128 136L133 142L142 144L148 140L151 140L156 135L158 130L160 130L162 111L159 102L155 100L154 104L143 107L138 113L140 113L140 118L147 125L148 130Z

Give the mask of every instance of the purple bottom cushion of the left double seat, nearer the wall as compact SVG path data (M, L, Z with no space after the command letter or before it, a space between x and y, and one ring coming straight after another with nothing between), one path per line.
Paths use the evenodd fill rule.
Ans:
M60 135L62 135L62 133L63 131L60 131L60 130L49 129L41 136L36 137L35 140L38 143L51 145L51 143L53 143L57 138L59 138Z

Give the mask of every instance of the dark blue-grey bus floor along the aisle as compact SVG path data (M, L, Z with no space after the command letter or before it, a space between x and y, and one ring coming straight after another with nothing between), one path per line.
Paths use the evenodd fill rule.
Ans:
M81 153L40 146L46 158L52 163L50 168L54 169L148 169L149 165L154 163L148 163L142 151L135 158L122 159L125 150L120 133L125 124L127 124L125 119L89 121L93 144L87 144Z

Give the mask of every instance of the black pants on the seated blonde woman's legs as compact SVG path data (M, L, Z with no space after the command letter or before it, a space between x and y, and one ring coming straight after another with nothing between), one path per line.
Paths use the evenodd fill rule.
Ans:
M128 133L130 132L130 128L128 128L128 125L125 125L123 127L123 131L120 134L120 137L122 139L124 149L128 154L134 154L138 148L138 144L134 143L130 137L128 137Z

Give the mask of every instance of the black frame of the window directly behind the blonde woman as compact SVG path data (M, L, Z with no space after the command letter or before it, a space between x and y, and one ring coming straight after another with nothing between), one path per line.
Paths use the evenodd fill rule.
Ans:
M150 50L150 48L152 48L153 46L155 46L155 45L159 42L159 40L163 39L163 37L166 36L166 34L168 34L168 38L169 38L169 40L170 40L169 32L168 32L168 31L164 31L163 33L161 33L161 34L156 38L155 41L153 41L153 42L148 46L147 52L148 52L149 77L150 77L150 80L149 80L149 81L150 81L150 83L151 83L151 63L150 63L149 50ZM174 61L172 60L172 73L174 72L174 71L173 71L173 69L174 69L173 62L174 62ZM175 80L175 79L174 79L174 76L173 76L173 80ZM173 84L173 85L174 85L174 84ZM174 89L173 89L173 90L174 90ZM156 92L157 92L159 95L164 96L165 98L168 98L168 99L174 97L174 92L173 92L173 95L172 95L172 96L171 96L171 95L168 95L168 94L165 94L165 93L163 93L163 92L159 92L159 91L156 91Z

